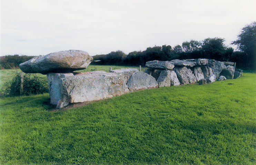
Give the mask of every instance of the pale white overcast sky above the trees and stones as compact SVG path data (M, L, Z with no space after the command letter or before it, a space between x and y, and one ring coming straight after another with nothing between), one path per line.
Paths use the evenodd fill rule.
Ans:
M220 37L256 21L256 0L1 0L0 55L144 51Z

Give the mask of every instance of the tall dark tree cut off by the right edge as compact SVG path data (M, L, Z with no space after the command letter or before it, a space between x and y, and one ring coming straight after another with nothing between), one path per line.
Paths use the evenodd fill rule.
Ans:
M245 52L246 56L243 58L247 63L256 63L256 22L246 25L237 37L232 44Z

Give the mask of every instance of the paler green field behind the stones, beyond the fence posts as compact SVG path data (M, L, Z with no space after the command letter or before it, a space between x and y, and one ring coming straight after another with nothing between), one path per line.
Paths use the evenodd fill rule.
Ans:
M76 72L89 72L93 70L105 70L106 72L109 72L109 68L112 67L112 70L115 69L121 69L121 68L136 68L139 70L139 67L132 67L132 66L112 66L112 65L89 65L84 70L77 70ZM141 71L144 71L146 67L142 67ZM0 85L6 83L7 81L11 80L12 77L15 75L15 73L20 73L21 70L18 69L0 69ZM39 77L46 77L46 75L37 74Z

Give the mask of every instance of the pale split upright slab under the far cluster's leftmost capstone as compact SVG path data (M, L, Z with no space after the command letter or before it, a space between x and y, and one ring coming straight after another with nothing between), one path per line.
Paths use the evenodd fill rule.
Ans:
M158 87L169 87L180 85L178 77L173 70L162 70L157 79Z

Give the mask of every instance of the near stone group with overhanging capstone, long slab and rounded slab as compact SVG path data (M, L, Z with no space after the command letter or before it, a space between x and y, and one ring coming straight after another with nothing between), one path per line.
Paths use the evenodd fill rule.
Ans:
M20 64L20 69L24 73L47 75L50 103L57 108L158 87L154 77L133 68L116 69L110 73L74 72L86 69L92 60L85 51L69 50L34 57Z

